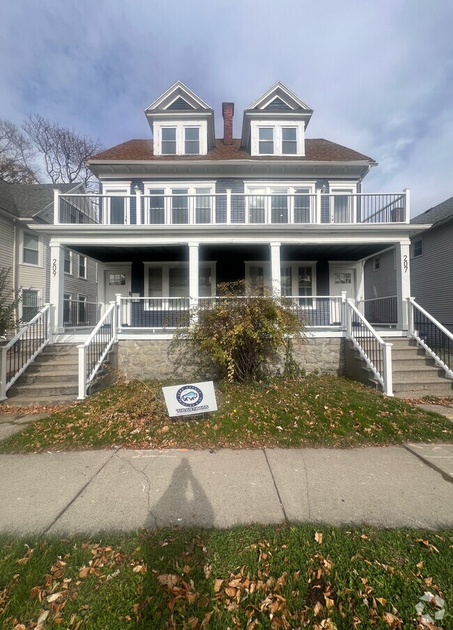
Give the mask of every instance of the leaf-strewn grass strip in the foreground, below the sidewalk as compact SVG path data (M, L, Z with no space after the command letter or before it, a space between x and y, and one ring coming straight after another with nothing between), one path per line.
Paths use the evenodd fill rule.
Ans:
M408 630L429 591L447 629L452 543L451 531L313 525L0 537L0 627Z

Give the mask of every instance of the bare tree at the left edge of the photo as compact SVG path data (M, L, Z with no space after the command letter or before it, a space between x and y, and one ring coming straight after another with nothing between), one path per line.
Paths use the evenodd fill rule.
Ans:
M0 119L0 177L9 183L38 183L36 149L15 123Z

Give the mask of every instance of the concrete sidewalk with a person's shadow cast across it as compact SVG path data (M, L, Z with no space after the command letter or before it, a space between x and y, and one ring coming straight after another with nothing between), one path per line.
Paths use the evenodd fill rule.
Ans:
M161 525L452 527L453 445L0 456L0 532Z

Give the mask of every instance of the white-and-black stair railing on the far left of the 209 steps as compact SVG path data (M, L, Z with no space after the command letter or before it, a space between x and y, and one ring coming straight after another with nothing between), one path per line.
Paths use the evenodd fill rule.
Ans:
M52 311L46 304L6 345L0 346L0 400L49 343Z

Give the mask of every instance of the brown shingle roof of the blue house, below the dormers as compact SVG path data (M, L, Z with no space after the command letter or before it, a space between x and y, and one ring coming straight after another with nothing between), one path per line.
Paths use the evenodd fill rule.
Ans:
M89 158L93 161L159 161L173 162L200 160L301 160L303 162L374 162L362 153L343 147L341 144L323 138L307 138L305 140L305 156L250 156L240 148L240 140L233 144L223 144L223 140L215 141L215 148L208 151L207 156L153 156L153 140L128 140Z

